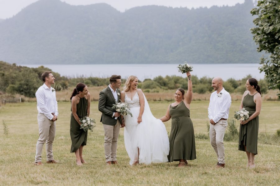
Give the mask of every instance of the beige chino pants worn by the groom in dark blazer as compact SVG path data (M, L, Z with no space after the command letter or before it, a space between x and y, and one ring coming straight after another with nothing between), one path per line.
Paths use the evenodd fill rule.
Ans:
M116 125L112 126L112 125L103 124L103 127L104 127L104 134L105 134L104 149L105 149L106 162L116 161L117 143L119 139L119 129L120 129L119 118L117 119Z

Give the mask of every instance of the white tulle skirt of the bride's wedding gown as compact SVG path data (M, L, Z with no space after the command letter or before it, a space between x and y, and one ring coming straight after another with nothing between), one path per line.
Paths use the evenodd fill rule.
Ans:
M124 144L130 158L129 164L138 160L138 148L139 163L168 162L169 139L163 122L145 110L142 122L138 124L140 107L132 107L130 112L133 117L124 116Z

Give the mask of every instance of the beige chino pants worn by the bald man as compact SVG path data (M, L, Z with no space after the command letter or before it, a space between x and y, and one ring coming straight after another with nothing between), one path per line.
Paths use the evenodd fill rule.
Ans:
M210 123L210 143L214 148L219 163L225 163L224 135L227 127L227 120L219 120L215 125Z

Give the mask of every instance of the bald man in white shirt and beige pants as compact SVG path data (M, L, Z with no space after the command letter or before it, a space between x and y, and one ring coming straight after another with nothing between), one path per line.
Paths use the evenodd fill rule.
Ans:
M208 107L208 118L210 120L210 143L217 157L217 167L225 167L224 135L227 127L231 96L223 88L222 78L216 77L212 80L214 92L210 96Z

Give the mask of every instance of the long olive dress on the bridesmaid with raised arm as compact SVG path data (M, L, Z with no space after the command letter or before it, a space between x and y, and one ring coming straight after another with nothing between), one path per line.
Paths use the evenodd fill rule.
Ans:
M196 159L194 126L189 117L189 108L181 101L175 107L170 105L169 113L172 121L169 136L170 151L168 161Z

